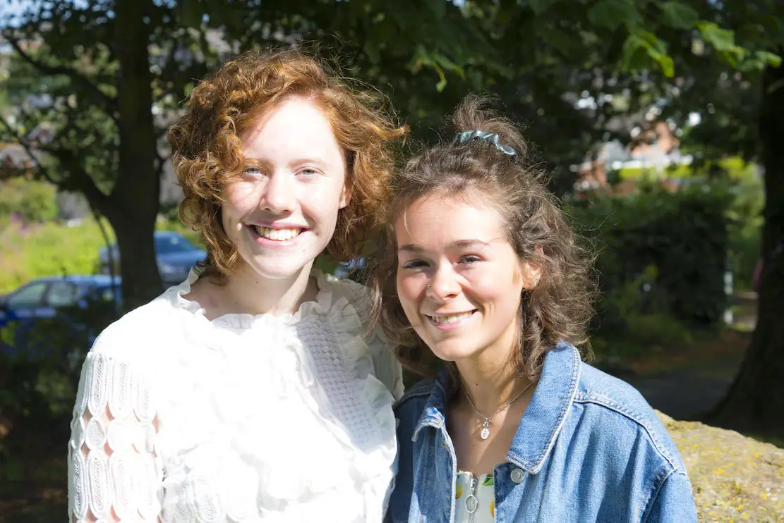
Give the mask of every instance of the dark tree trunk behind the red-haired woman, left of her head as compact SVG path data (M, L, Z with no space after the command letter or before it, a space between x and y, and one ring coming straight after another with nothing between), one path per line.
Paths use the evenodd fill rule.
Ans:
M152 0L115 2L115 38L119 61L119 173L111 194L114 205L104 211L120 248L122 295L127 309L161 294L153 233L158 217L161 182L152 116L152 74L148 45Z

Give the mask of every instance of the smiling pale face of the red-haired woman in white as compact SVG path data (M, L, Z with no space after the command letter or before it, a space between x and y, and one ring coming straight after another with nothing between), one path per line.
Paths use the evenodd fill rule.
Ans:
M223 229L264 278L310 271L346 207L346 162L314 103L290 98L245 137L247 167L224 191Z

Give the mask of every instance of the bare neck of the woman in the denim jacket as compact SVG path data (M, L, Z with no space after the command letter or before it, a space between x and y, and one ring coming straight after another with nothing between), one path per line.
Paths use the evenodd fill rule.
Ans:
M512 334L517 334L516 325ZM456 362L466 395L485 416L492 416L531 382L517 373L514 337L502 336L494 346Z

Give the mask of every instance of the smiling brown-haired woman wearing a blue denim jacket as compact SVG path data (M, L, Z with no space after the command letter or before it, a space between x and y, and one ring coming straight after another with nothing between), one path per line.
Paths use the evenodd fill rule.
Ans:
M469 98L397 179L376 316L414 370L395 407L388 521L696 521L684 464L637 391L582 362L583 255L510 121ZM586 355L590 353L586 350Z

